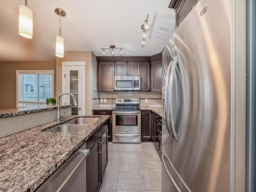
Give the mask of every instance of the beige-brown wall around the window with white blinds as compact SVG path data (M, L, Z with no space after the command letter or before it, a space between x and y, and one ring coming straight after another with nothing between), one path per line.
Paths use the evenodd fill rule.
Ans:
M0 109L16 108L16 70L54 70L56 95L56 61L0 62Z

